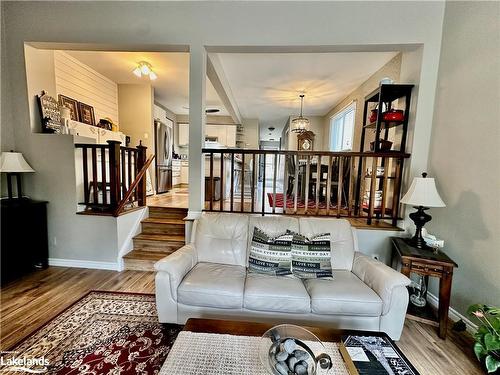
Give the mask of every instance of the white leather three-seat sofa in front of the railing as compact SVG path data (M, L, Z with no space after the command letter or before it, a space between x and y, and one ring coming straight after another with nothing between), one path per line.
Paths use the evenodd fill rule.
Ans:
M330 232L334 280L247 273L254 226L269 234ZM191 242L155 265L159 320L289 322L383 331L398 340L410 280L356 250L347 220L203 214L193 224Z

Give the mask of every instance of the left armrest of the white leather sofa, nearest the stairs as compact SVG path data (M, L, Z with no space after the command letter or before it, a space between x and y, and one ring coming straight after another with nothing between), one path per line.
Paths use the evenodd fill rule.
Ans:
M196 263L198 263L198 254L192 243L184 245L179 250L155 263L157 272L166 272L169 275L170 293L175 301L177 301L179 284Z

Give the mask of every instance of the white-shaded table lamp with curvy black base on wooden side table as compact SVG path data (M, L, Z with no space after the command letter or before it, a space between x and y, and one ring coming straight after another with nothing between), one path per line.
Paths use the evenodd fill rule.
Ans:
M410 219L413 220L417 229L415 235L409 240L409 244L419 249L428 249L429 246L422 237L422 228L425 223L431 221L432 216L427 214L425 210L428 210L429 207L446 207L437 192L434 179L427 177L425 172L422 173L422 177L415 177L401 199L401 203L411 204L417 209L416 212L410 214Z

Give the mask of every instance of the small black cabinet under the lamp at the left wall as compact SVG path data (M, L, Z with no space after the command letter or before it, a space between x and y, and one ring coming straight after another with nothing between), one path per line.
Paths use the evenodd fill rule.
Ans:
M0 207L3 285L48 266L47 202L3 199Z

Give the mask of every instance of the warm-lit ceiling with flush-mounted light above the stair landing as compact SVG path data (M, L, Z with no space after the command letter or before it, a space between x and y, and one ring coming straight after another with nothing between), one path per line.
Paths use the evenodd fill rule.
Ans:
M155 100L175 114L189 114L189 53L181 52L105 52L65 51L116 83L149 83ZM138 78L132 70L139 61L153 66L158 79ZM229 115L210 80L206 83L206 108L218 108L218 115Z

